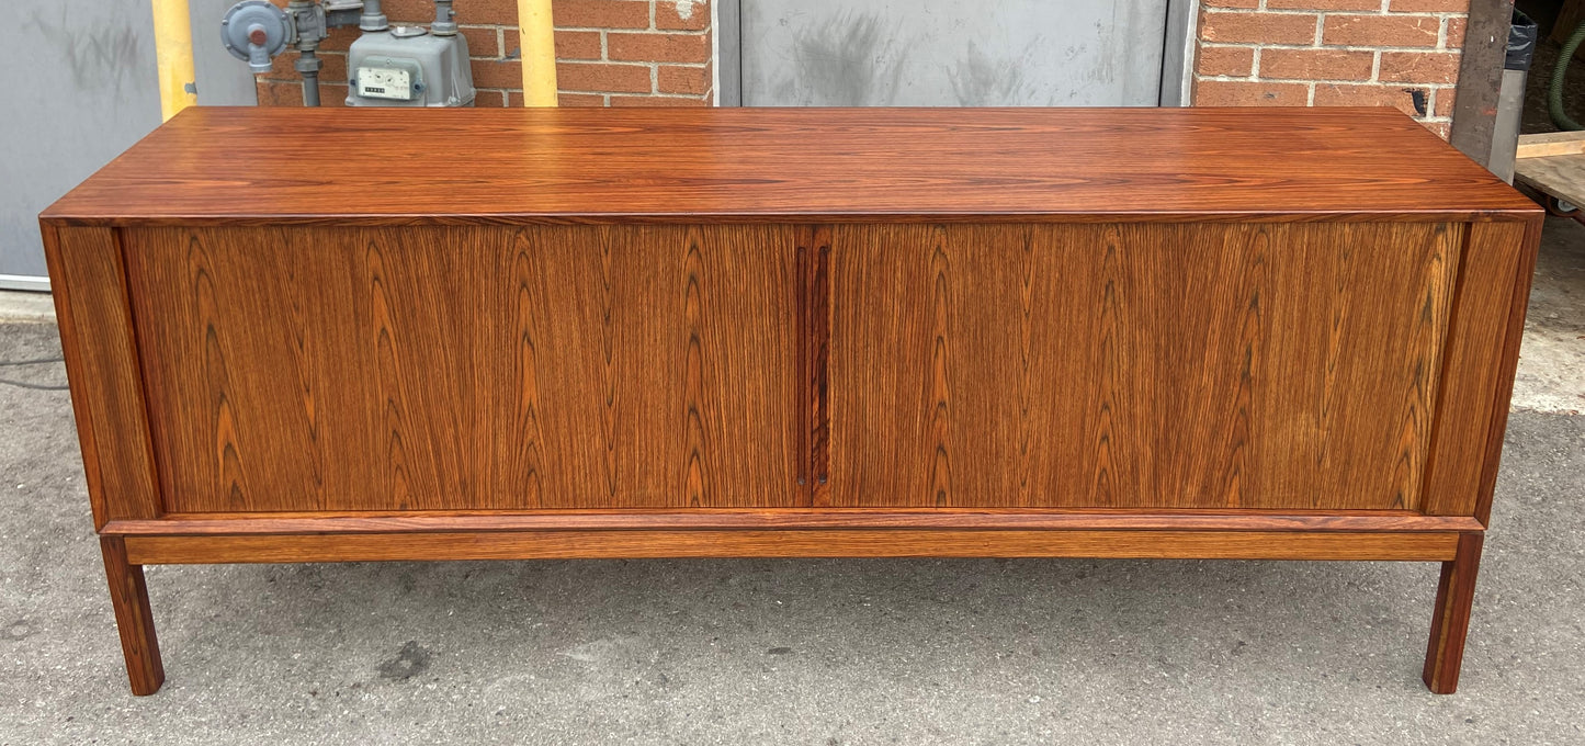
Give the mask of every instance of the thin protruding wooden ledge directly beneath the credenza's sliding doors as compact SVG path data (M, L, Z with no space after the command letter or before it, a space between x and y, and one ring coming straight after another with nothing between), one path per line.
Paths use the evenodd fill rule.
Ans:
M108 535L384 534L468 531L1262 531L1262 532L1449 532L1480 531L1469 516L1426 516L1409 510L1278 513L1270 510L1127 508L815 508L751 510L540 510L540 512L295 512L168 513L149 521L111 521ZM1278 543L1282 543L1281 540Z

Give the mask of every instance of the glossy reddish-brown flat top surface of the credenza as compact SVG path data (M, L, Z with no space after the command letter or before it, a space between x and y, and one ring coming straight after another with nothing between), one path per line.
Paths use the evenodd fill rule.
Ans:
M1536 212L1395 109L190 108L43 219L1479 220Z

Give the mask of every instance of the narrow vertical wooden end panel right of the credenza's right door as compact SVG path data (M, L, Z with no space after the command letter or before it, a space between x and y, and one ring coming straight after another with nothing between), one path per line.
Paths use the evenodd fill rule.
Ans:
M1469 230L1426 464L1426 513L1474 515L1480 523L1490 515L1539 244L1539 217Z

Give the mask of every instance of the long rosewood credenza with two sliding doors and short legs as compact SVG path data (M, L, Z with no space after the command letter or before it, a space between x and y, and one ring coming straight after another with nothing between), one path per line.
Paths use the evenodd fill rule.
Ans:
M1390 109L187 109L41 215L144 564L1442 562L1542 212Z

